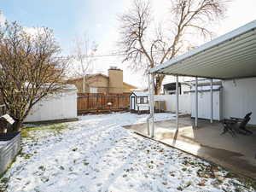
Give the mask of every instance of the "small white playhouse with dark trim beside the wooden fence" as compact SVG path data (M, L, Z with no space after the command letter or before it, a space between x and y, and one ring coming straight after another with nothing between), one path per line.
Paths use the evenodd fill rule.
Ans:
M130 111L131 113L147 113L149 112L148 92L133 91L130 95Z

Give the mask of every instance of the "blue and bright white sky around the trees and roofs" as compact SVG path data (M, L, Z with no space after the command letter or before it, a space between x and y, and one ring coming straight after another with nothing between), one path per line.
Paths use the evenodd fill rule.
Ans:
M73 39L86 32L99 45L98 55L106 55L116 47L119 22L117 17L131 0L4 0L0 10L9 21L17 20L22 26L48 26L61 44L63 54L71 54ZM165 15L169 0L151 0L154 13ZM227 18L213 31L216 35L245 25L256 19L255 0L234 0L230 3ZM145 87L142 73L132 73L122 58L102 57L96 60L95 73L107 73L108 67L117 66L124 70L125 82ZM166 79L166 83L169 79Z

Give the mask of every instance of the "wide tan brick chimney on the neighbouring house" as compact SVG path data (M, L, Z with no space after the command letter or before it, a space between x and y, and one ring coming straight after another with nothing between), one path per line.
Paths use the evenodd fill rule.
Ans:
M108 92L123 93L123 70L117 67L110 67L108 69L108 78Z

